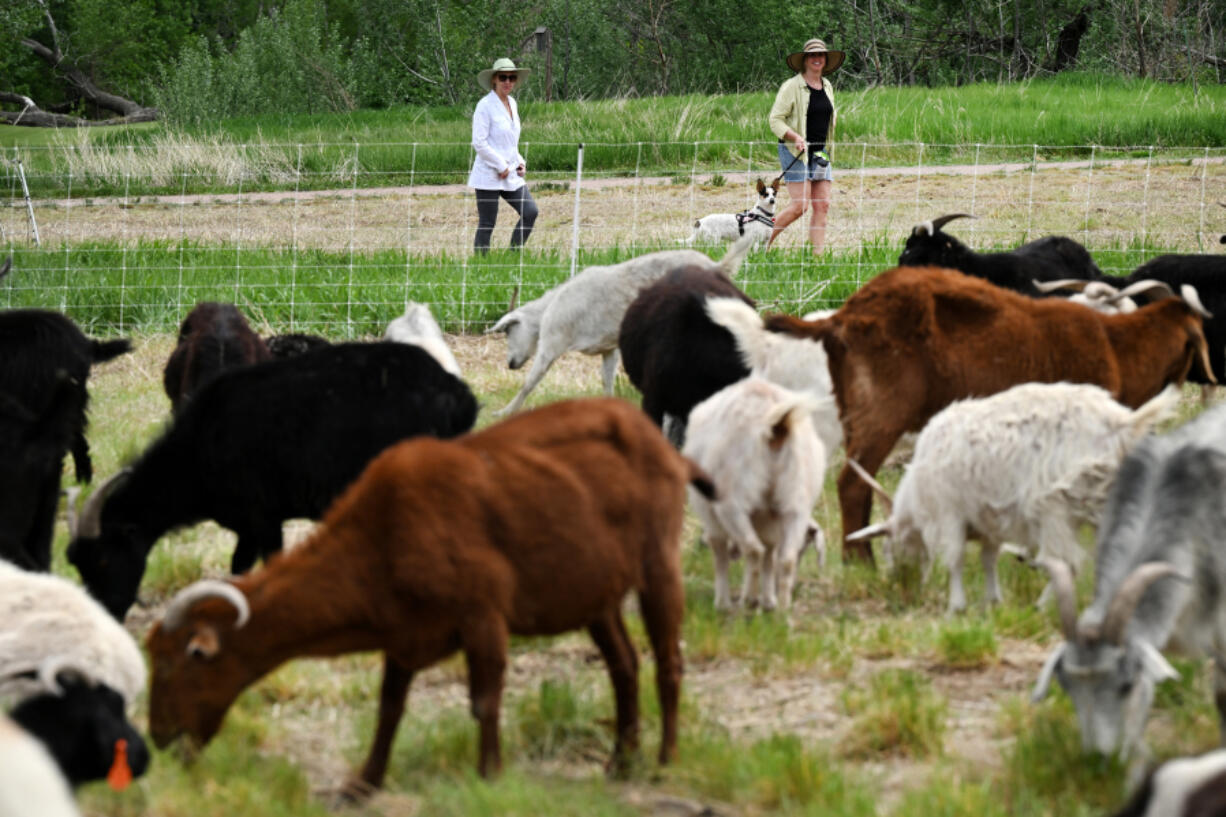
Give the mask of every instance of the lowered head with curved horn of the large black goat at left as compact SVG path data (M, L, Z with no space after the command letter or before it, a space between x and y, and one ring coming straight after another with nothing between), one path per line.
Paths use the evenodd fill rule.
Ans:
M150 545L137 526L102 518L107 498L123 487L128 474L120 471L99 485L80 514L75 493L69 494L69 562L89 595L120 622L136 601Z

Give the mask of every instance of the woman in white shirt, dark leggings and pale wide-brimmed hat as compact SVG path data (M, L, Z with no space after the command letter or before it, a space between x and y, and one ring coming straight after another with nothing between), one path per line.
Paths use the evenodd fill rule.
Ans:
M472 112L472 148L477 157L468 174L468 186L477 191L477 237L472 248L489 251L489 237L498 221L498 200L520 215L511 231L511 247L522 247L536 223L537 206L524 182L524 157L520 156L520 112L511 91L530 69L517 69L504 58L477 75L477 85L489 91Z

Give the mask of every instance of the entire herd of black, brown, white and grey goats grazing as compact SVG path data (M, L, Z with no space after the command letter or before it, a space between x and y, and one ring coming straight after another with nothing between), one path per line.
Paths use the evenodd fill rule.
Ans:
M693 249L592 266L490 332L531 369L499 416L478 404L429 309L409 304L381 342L260 337L232 304L183 320L163 385L173 420L77 508L53 575L61 471L92 480L93 364L130 350L65 315L0 312L0 817L77 815L71 785L121 789L150 764L128 714L150 681L148 731L202 746L238 694L295 656L384 656L374 742L343 794L383 785L413 673L462 651L478 769L500 768L511 635L586 628L613 686L611 768L638 748L634 590L656 661L660 762L676 753L687 505L715 559L721 610L786 608L797 562L825 561L813 521L839 447L845 561L943 564L966 607L967 539L983 597L997 559L1047 572L1063 642L1035 686L1069 694L1086 750L1130 762L1119 815L1226 815L1226 752L1144 774L1168 649L1214 659L1226 736L1226 406L1165 434L1184 382L1226 382L1226 255L1163 255L1102 274L1079 243L977 253L917 224L899 266L837 310L763 316L734 283L753 237L712 261ZM1226 243L1226 237L1222 238ZM0 276L9 274L9 264ZM520 412L562 355L618 362L641 410L612 396ZM908 432L891 497L875 472ZM884 520L870 524L873 497ZM320 520L282 552L287 519ZM227 580L180 590L147 637L123 621L150 551L215 520L237 534ZM1097 527L1094 599L1078 531ZM729 562L744 558L739 599ZM256 561L264 566L254 569Z

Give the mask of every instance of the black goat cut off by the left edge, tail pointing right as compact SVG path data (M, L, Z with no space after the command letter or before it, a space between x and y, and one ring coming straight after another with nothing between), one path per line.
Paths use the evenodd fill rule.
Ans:
M89 368L130 348L86 337L58 312L0 312L0 558L50 569L64 455L80 482L93 478Z

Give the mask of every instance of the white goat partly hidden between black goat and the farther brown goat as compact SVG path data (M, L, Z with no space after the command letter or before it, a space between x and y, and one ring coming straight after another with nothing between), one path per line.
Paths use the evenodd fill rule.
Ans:
M828 455L842 444L839 407L821 343L766 331L761 315L738 298L709 298L706 314L732 332L741 359L750 372L785 389L814 396L813 428ZM804 319L813 320L808 315Z

